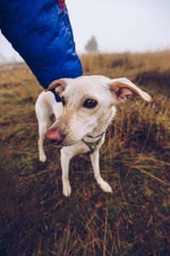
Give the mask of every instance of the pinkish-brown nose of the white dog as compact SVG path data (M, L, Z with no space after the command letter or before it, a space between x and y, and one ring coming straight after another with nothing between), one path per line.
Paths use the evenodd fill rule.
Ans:
M61 134L58 129L49 129L46 132L45 137L48 139L49 143L52 143L54 145L59 145L59 143L61 143L64 139L64 135Z

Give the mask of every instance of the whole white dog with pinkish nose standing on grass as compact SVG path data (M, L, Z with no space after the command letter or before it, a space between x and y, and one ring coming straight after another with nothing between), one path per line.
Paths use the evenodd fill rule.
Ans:
M99 173L99 148L105 141L105 132L116 113L116 104L128 96L141 96L150 102L150 96L128 79L109 79L104 76L82 76L77 79L59 79L49 85L61 97L56 102L51 91L37 98L36 113L39 124L39 159L44 162L44 137L61 148L63 194L71 195L68 178L71 158L80 153L90 153L94 177L101 189L112 192L111 186ZM50 116L55 122L49 127Z

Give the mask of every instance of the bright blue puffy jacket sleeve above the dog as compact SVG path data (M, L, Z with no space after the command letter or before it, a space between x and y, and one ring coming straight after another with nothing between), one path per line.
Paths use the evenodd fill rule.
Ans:
M1 0L0 28L43 88L82 75L64 0Z

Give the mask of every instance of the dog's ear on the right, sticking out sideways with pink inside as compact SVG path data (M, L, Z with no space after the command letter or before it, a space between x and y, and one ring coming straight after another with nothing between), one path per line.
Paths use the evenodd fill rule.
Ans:
M118 102L126 102L130 95L141 96L144 101L151 102L150 95L144 92L144 90L140 90L138 86L128 79L113 79L109 85L111 92L114 92Z

